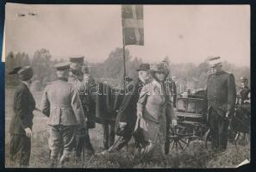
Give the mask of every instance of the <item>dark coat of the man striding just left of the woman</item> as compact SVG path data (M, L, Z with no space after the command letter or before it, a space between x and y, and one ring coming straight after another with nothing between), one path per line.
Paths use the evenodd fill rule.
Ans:
M127 129L129 131L134 130L136 122L137 101L140 96L140 90L143 86L144 83L142 83L140 79L128 84L127 92L123 97L122 104L116 117L116 130L119 122L126 122L128 127Z

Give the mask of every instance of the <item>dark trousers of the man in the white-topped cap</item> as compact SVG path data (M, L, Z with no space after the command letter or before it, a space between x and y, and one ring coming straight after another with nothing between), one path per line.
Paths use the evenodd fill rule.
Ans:
M214 151L225 151L228 145L228 120L224 114L218 114L211 109L209 127L211 131L211 145Z

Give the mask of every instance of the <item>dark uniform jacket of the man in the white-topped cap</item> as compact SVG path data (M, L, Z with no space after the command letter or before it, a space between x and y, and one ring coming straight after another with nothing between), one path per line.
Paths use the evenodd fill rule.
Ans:
M208 109L212 107L220 115L228 111L233 113L236 97L234 75L226 71L209 75L206 94Z

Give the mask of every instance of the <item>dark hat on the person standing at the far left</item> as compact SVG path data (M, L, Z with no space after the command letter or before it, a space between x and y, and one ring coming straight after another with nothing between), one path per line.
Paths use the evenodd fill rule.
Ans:
M28 79L33 77L34 72L29 65L26 65L24 67L16 67L9 72L9 75L15 74L18 74L22 81L28 81Z

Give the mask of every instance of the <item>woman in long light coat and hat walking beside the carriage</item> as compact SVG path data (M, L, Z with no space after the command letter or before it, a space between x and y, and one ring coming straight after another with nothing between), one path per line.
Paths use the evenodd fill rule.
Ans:
M143 149L143 161L160 161L165 158L166 125L177 125L172 104L172 92L165 83L166 68L163 64L150 67L153 81L145 85L137 102L137 118L143 129L147 146Z

